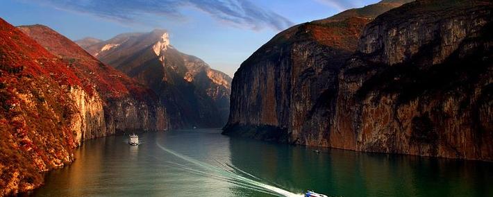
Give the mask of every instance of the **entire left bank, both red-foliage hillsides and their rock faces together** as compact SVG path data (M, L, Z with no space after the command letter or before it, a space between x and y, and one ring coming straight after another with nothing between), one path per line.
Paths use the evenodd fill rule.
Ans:
M40 186L85 139L167 128L151 89L50 28L0 19L0 43L0 196Z

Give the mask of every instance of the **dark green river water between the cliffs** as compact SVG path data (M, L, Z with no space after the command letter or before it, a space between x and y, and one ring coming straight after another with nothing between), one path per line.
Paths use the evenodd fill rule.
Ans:
M33 196L493 196L493 164L290 146L175 130L85 142Z

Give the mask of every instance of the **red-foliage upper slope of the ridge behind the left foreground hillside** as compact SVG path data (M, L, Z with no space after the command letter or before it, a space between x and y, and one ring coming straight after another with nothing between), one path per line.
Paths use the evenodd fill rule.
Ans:
M19 29L51 53L58 55L58 58L62 58L69 65L69 69L83 79L84 85L95 87L104 99L117 99L128 94L140 100L154 96L147 87L120 71L104 65L72 40L47 26L19 26Z

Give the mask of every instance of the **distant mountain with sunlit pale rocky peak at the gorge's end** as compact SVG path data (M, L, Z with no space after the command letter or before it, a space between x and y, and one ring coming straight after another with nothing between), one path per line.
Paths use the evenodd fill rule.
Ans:
M172 127L213 128L226 123L231 78L176 50L167 31L125 33L85 50L151 87L165 105Z

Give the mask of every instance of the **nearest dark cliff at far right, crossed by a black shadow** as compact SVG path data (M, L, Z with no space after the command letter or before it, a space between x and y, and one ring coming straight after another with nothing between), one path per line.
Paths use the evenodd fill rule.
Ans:
M491 1L417 1L378 17L341 71L330 146L493 160L492 35Z

